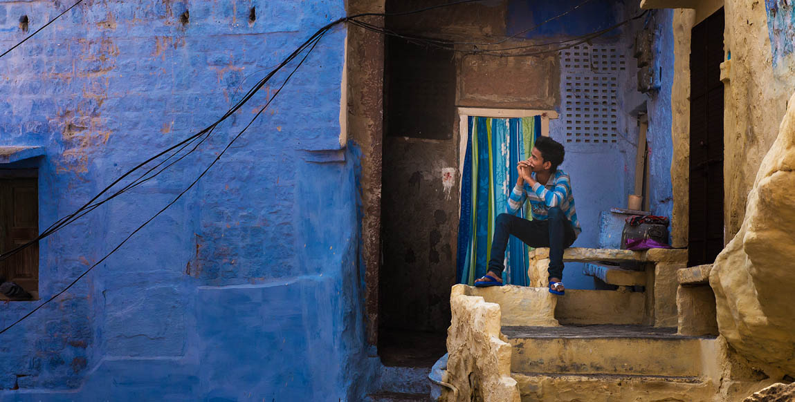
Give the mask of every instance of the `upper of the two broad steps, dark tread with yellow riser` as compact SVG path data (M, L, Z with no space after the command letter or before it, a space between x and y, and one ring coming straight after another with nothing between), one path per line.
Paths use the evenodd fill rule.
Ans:
M512 346L511 371L695 377L702 343L676 328L639 325L502 327Z

